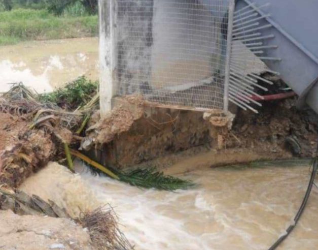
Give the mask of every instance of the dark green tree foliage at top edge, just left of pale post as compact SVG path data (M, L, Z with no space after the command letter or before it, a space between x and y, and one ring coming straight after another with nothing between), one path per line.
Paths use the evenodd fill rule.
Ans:
M55 15L62 15L63 11L70 6L80 3L89 15L94 15L98 10L98 0L51 0L48 9Z

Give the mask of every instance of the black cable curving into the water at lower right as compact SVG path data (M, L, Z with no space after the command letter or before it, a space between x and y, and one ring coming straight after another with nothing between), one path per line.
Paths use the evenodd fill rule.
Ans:
M294 218L294 224L289 226L288 229L286 230L286 234L279 237L278 240L270 248L268 248L268 250L276 249L277 246L279 246L281 244L281 242L284 241L288 237L288 235L293 231L293 229L296 227L301 214L305 210L308 198L310 196L310 192L311 192L311 188L313 185L313 181L314 181L315 176L316 176L317 168L318 168L318 144L317 144L316 155L315 155L315 158L314 158L313 163L312 163L312 172L311 172L310 180L308 183L307 191L306 191L305 197L303 199L303 202L301 203L301 206L300 206L300 208L299 208L299 210Z

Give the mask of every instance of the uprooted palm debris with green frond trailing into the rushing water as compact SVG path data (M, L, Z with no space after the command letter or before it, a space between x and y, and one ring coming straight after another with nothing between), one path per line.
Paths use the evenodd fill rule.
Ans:
M98 103L97 83L80 77L76 81L68 83L64 89L58 89L45 95L37 95L22 83L15 84L0 97L0 112L23 117L29 122L28 128L23 131L20 138L28 140L28 136L32 135L33 131L42 131L43 136L49 136L54 144L54 150L51 150L54 151L54 155L48 157L46 161L42 161L42 164L53 160L54 156L55 160L66 159L68 168L74 171L72 157L78 157L109 177L134 186L174 191L188 189L194 185L188 180L165 176L154 168L124 172L116 168L105 167L75 150L79 147L80 141L85 139L83 136L85 136L87 122L91 114L98 109ZM32 161L32 158L37 157L36 148L34 149L30 145L31 149L25 149L24 143L21 144L21 147L14 153L10 153L10 160L4 161L3 169L9 169L10 176L18 175L17 166L21 164L31 165L31 169L39 168L37 166L39 162ZM32 155L28 155L29 153ZM3 174L0 171L0 180L3 179L1 176ZM27 177L26 175L23 178ZM10 179L10 176L6 176L7 179ZM20 182L21 180L14 184Z

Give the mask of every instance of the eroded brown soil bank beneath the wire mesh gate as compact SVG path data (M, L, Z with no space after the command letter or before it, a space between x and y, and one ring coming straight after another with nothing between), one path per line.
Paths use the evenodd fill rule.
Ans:
M123 124L121 130L113 119L100 120L99 126L88 131L97 143L90 153L103 164L119 168L139 164L168 167L176 159L198 153L207 153L210 166L311 157L318 118L309 109L296 110L295 104L296 99L268 102L260 114L234 110L235 115L222 118L150 107L140 111L140 104L121 102L125 115L111 114ZM111 139L102 137L110 134Z

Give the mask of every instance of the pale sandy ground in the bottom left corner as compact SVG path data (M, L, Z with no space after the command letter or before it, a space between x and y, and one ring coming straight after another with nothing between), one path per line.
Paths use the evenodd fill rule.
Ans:
M19 250L96 249L87 229L66 218L19 216L0 211L0 248Z

